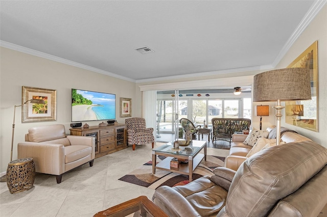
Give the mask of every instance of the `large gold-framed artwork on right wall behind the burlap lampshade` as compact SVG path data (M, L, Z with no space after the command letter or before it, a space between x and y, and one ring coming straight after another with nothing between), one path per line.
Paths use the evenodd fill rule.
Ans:
M318 41L302 52L288 68L310 69L311 100L285 102L285 121L288 124L318 132Z

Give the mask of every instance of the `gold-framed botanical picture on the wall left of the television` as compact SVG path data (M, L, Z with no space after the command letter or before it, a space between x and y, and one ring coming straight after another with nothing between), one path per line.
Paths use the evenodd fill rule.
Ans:
M56 120L56 90L22 87L22 122L55 121ZM27 102L31 99L42 99L43 103Z

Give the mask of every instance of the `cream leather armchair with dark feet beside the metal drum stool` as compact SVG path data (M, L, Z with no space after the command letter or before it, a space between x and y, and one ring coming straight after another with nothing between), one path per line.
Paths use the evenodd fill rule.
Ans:
M57 183L62 174L95 158L95 138L65 134L62 124L38 126L29 129L24 143L18 143L18 158L32 157L35 171L56 175Z

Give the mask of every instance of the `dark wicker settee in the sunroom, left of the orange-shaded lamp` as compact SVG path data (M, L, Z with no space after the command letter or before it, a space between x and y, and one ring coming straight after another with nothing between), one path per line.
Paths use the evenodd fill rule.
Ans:
M231 142L231 135L237 131L249 130L251 120L247 118L213 118L213 142L223 140Z

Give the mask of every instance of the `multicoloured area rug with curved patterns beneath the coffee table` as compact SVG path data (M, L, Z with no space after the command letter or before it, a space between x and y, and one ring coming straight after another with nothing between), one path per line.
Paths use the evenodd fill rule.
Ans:
M165 159L165 156L157 156L157 163ZM206 160L202 160L193 172L193 180L202 176L213 175L213 169L224 166L225 157L207 155ZM189 183L189 176L174 172L156 169L155 175L152 174L152 161L146 162L142 167L121 177L119 180L129 183L156 189L162 185L177 186Z

